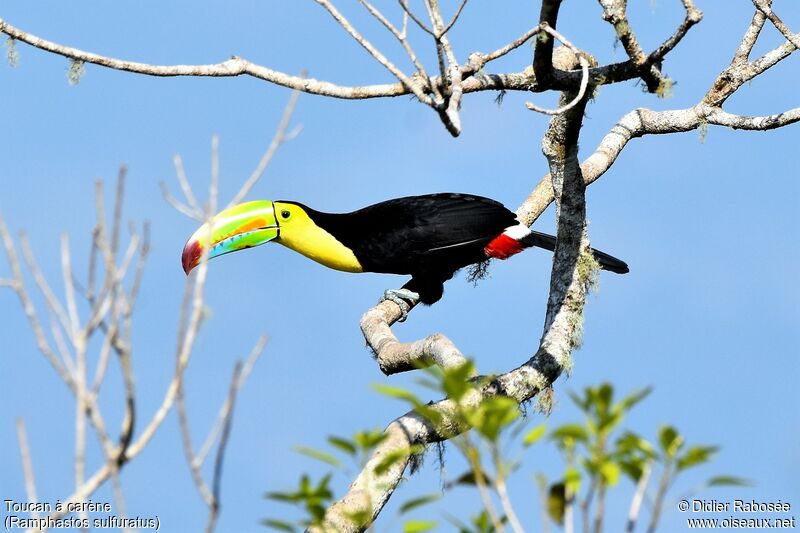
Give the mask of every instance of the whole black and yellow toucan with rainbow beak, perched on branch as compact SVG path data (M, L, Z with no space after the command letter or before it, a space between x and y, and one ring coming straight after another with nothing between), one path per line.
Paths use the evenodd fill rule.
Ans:
M351 213L323 213L292 201L253 201L220 212L187 241L186 274L208 257L274 241L329 268L345 272L409 274L384 298L401 306L433 304L459 269L507 259L532 246L554 250L556 238L532 231L500 202L461 193L407 196ZM604 270L628 265L592 250Z

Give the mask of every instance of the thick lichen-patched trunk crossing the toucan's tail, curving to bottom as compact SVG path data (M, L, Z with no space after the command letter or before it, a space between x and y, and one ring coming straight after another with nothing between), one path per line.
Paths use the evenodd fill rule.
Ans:
M565 93L562 102L570 101L574 96ZM557 177L554 188L559 198L559 244L553 260L545 333L536 355L521 367L474 390L459 403L445 399L431 404L429 408L441 417L436 424L415 411L389 424L385 430L386 438L376 447L350 485L347 495L328 509L326 530L363 531L372 523L394 492L414 450L450 439L469 429L456 415L459 409L477 406L485 398L498 395L509 396L520 403L528 401L550 387L563 369L571 367L570 355L579 336L578 325L587 288L588 273L579 268L579 264L583 264L587 257L591 258L590 254L581 253L581 250L588 249L588 240L583 196L585 185L577 162L577 135L585 104L584 99L582 104L554 117L543 143L552 173ZM396 319L396 315L391 315L389 320L392 317ZM386 457L397 459L386 468L382 464ZM381 468L377 468L379 466Z

